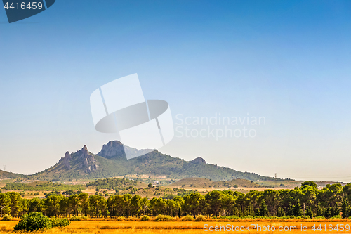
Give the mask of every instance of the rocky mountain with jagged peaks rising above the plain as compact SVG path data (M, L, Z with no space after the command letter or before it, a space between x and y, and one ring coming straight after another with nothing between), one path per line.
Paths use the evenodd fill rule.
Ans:
M129 154L140 152L127 148ZM155 150L146 155L126 160L124 148L119 141L110 141L102 146L102 150L94 155L86 145L74 153L66 152L65 157L53 167L37 174L27 176L29 179L63 180L69 178L110 178L129 174L144 174L150 176L166 176L166 178L201 177L213 181L229 181L243 178L249 181L273 180L271 177L260 176L249 172L240 172L228 167L208 164L201 157L188 162L180 158L164 155Z

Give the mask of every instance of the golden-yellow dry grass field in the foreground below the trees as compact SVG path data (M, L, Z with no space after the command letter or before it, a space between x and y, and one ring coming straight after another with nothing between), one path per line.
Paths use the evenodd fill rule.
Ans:
M0 233L12 233L13 226L15 226L16 223L18 223L18 221L0 221ZM312 230L314 225L316 230ZM319 225L321 228L320 230L317 230ZM347 225L350 227L348 231L345 230ZM216 226L218 229L216 229ZM222 230L220 230L221 226ZM246 229L245 226L248 228ZM255 228L250 230L250 226L255 226ZM260 230L257 230L257 226L260 227L258 228ZM301 230L301 226L304 228L307 226L307 231L306 229ZM212 228L212 231L210 230L210 227ZM272 231L273 227L275 231ZM336 227L338 230L336 230ZM343 227L344 230L340 230L341 227ZM228 230L228 228L230 228L230 230ZM281 229L280 231L279 228ZM65 228L53 228L39 233L351 233L351 222L75 221Z

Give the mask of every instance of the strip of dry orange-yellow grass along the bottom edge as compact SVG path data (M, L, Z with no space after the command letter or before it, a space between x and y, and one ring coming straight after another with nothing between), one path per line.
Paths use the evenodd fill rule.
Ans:
M0 233L11 233L13 230L13 226L17 221L0 221ZM312 226L314 225L313 222L296 222L296 221L290 221L290 222L267 222L267 221L246 221L246 222L193 222L193 221L183 221L183 222L150 222L150 221L145 221L145 222L140 222L140 221L76 221L72 222L69 226L66 228L53 228L51 230L46 230L44 232L39 232L39 233L55 233L55 234L63 234L63 233L79 233L79 234L84 234L84 233L144 233L144 234L150 234L150 233L165 233L165 234L185 234L185 233L256 233L256 234L266 234L266 233L274 233L272 231L256 231L253 230L252 232L245 232L245 231L231 231L231 232L209 232L204 230L204 225L208 224L208 226L245 226L250 224L257 224L258 226L274 226L276 229L279 228L279 226L284 227L291 227L294 226L297 228L296 231L284 231L281 233L286 233L286 234L291 234L291 233L351 233L349 230L348 232L343 231L341 232L340 230L333 230L333 231L314 231L311 230ZM326 224L326 226L329 226L329 224L332 224L333 226L336 226L337 224L349 224L351 226L351 222L316 222L316 225ZM308 231L301 231L300 226L307 225L308 226ZM279 232L277 232L279 233Z

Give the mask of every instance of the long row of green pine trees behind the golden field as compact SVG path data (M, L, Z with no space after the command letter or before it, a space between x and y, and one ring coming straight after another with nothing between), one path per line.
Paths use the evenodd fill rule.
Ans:
M0 193L1 215L21 216L42 212L46 216L84 215L95 218L118 216L351 216L351 183L326 185L322 189L305 181L295 189L240 193L213 190L206 195L194 192L173 199L140 197L140 195L49 195L44 199L22 198L20 193Z

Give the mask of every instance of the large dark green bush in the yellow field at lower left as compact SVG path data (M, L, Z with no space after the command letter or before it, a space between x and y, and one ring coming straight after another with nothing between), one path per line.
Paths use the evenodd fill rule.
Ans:
M30 214L22 215L20 222L13 230L45 230L53 227L65 227L69 225L67 219L49 219L40 212L31 212Z

